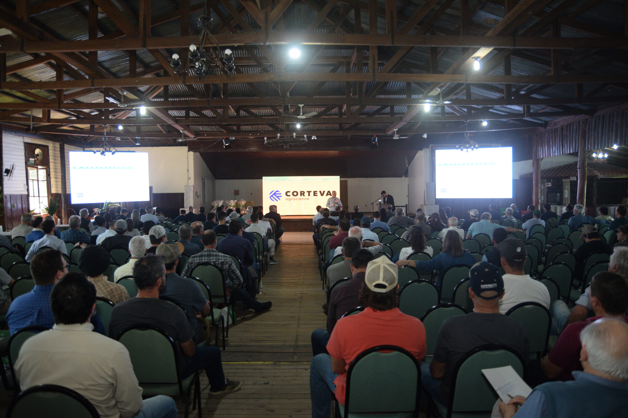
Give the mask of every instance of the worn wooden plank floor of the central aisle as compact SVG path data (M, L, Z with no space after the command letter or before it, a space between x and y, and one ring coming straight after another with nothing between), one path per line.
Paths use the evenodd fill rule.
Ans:
M273 301L271 310L254 314L241 310L229 328L222 364L229 379L242 380L234 394L208 394L201 376L203 417L305 417L310 407L310 335L325 327L316 251L311 233L284 233L275 259L262 278L260 301ZM249 316L250 315L250 316ZM185 410L176 399L180 417ZM197 417L192 411L190 417Z

